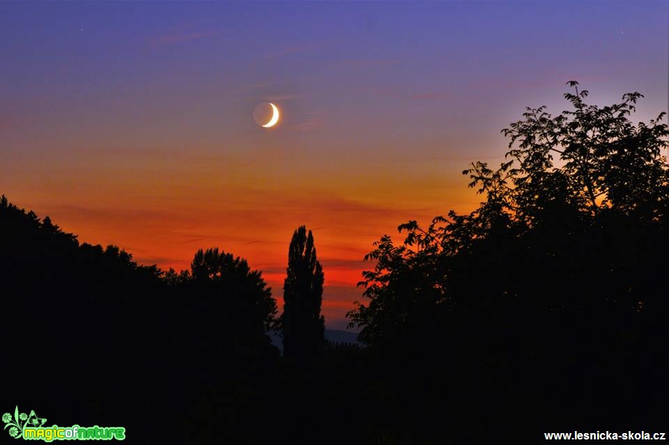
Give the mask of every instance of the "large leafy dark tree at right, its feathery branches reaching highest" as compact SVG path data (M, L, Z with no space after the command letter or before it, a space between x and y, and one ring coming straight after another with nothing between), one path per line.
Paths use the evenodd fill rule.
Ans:
M360 282L367 301L348 316L376 356L369 375L384 375L380 397L395 406L448 400L440 416L482 434L528 406L541 414L524 423L542 428L661 423L652 403L669 394L659 353L669 341L664 113L633 124L639 93L598 107L569 85L570 110L528 108L503 130L498 169L463 172L484 196L477 209L400 225L403 242L383 236L367 255L376 262ZM631 407L639 393L641 409ZM425 412L376 408L373 423L390 436L449 437L424 426Z

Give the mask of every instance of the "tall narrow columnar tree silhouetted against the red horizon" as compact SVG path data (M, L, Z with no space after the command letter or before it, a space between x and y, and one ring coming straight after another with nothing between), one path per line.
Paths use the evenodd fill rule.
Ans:
M302 226L293 233L284 281L285 356L308 359L322 349L325 329L322 301L323 269L316 259L312 231L307 234L307 228Z

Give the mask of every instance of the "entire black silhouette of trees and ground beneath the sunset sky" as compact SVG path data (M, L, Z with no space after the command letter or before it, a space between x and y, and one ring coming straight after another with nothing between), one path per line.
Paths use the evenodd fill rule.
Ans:
M279 317L261 271L229 252L161 271L2 196L3 400L49 425L124 425L133 444L662 430L668 127L630 120L639 93L598 107L569 86L570 110L528 108L499 167L463 172L477 209L375 243L348 313L364 347L323 340L327 270L305 227Z

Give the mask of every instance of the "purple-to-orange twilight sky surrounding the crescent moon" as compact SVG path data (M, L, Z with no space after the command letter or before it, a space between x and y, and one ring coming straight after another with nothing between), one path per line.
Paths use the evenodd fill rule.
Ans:
M374 241L473 210L461 172L524 107L578 80L666 111L668 27L669 1L0 2L0 194L140 264L245 257L279 307L307 225L344 329Z

